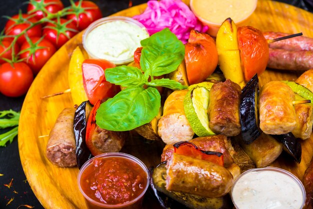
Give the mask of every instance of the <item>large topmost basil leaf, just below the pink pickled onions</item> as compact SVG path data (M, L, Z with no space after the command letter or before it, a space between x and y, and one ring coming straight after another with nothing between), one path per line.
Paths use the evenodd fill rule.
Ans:
M143 46L140 66L142 71L151 76L174 71L184 57L183 43L168 28L154 33L140 43ZM166 63L162 63L163 61Z

